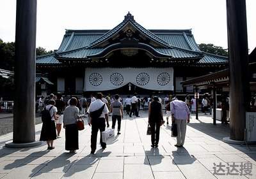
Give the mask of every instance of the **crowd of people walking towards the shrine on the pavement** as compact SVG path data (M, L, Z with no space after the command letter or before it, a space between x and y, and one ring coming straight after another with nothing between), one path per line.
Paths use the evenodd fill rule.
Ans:
M171 96L170 96L171 97ZM186 135L186 122L189 122L189 108L183 101L179 101L176 97L164 98L166 113L168 117L172 117L172 123L177 124L177 144L176 147L181 147L184 144ZM41 103L42 99L39 99ZM40 135L41 141L47 142L47 149L54 149L54 140L60 138L61 125L65 129L65 150L76 152L79 149L79 133L77 129L77 119L88 115L88 125L92 127L91 134L91 154L95 153L97 147L97 134L100 131L100 146L106 148L106 143L102 141L102 132L106 127L109 127L109 116L112 117L112 129L115 129L117 121L117 134L121 134L121 121L124 118L125 111L129 117L132 114L138 115L138 106L143 103L143 106L148 110L148 124L150 124L152 147L158 147L160 126L164 123L162 99L160 97L144 97L142 100L136 94L130 98L127 96L125 101L116 94L114 99L103 96L102 93L97 93L86 99L86 97L71 97L67 103L63 101L61 94L51 94L47 101L42 101L40 110L42 111L42 131ZM123 103L122 103L123 102ZM42 106L42 107L41 107ZM129 108L130 107L130 108ZM167 120L168 124L168 120Z

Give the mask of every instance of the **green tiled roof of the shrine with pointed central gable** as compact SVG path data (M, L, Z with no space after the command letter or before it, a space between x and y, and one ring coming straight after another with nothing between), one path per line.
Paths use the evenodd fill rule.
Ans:
M136 43L113 41L127 29L135 29L139 36L143 36L141 41L136 38L132 38L134 41L137 40ZM147 41L143 41L144 39ZM106 57L108 53L122 48L146 50L154 57L163 57L172 59L172 61L193 59L193 63L197 65L227 64L228 62L227 57L201 52L191 29L147 30L134 20L131 13L128 13L124 20L111 30L66 30L57 52L37 57L36 64L58 65L61 64L62 61L59 61L61 59L86 61L92 58Z

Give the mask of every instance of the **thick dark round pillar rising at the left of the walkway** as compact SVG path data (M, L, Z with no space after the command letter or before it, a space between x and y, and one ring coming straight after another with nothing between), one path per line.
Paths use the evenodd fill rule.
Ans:
M36 0L17 0L13 143L35 141Z

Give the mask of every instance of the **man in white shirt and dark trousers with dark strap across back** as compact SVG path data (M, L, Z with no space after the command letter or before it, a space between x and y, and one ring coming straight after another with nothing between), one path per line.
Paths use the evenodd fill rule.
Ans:
M109 127L108 123L108 107L107 105L101 100L102 93L97 93L96 101L93 101L89 108L88 113L90 115L89 125L92 125L92 135L91 135L91 154L94 154L97 146L97 134L100 130L100 145L104 149L106 148L106 143L102 142L102 135L101 132L105 131L106 123L107 127Z

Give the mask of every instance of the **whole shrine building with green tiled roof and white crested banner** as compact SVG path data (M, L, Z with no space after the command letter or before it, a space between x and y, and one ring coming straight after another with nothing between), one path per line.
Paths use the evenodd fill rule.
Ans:
M46 92L72 95L192 93L180 82L225 68L228 57L202 52L191 29L145 29L131 13L111 30L68 29L58 50L36 57Z

